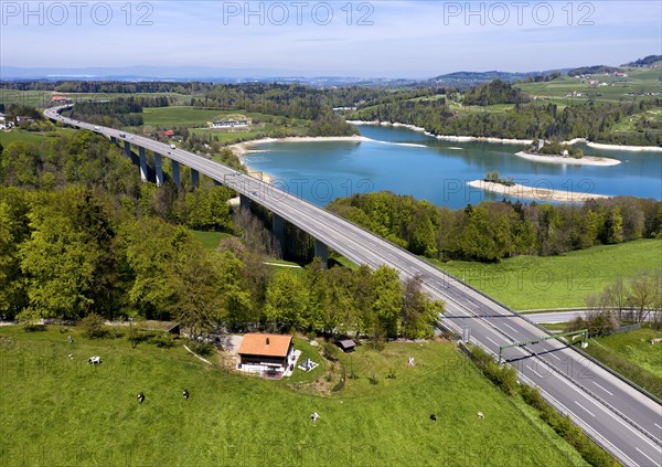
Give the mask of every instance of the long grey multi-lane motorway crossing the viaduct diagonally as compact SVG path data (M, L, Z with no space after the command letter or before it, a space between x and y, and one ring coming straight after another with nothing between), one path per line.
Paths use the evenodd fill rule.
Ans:
M126 139L116 129L58 115L65 107L47 109L45 115L74 127ZM398 270L403 279L419 275L425 290L446 303L442 325L459 335L468 328L470 341L494 354L500 346L548 336L532 321L459 279L331 212L192 152L171 149L141 136L126 136L131 145L142 146L233 188L356 264L373 268L387 265ZM662 467L662 405L656 401L558 340L508 349L504 358L517 370L522 382L540 388L547 401L568 414L623 465Z

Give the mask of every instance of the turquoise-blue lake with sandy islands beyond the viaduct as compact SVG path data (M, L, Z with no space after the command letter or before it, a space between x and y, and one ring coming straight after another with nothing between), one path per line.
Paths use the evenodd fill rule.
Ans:
M339 197L388 190L438 205L463 208L490 199L467 187L487 172L553 190L662 199L662 153L592 149L622 163L611 167L533 162L514 153L525 146L441 141L405 128L360 126L372 141L271 142L245 157L252 170L314 204Z

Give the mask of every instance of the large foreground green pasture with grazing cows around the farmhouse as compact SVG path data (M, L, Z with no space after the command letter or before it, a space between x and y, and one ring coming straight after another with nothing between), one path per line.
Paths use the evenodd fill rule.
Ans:
M104 362L88 365L89 355ZM0 328L0 357L3 466L585 465L451 343L361 347L351 363L343 355L357 379L333 395L314 391L325 365L266 381L209 367L179 344L132 350L126 338L90 341L75 329Z

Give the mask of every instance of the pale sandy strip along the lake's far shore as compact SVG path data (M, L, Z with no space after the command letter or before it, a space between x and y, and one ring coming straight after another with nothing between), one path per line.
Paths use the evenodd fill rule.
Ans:
M515 138L494 138L489 136L453 136L453 135L437 135L423 127L417 127L415 125L409 124L401 124L401 123L391 123L391 121L367 121L367 120L346 120L350 125L372 125L372 126L383 126L383 127L395 127L395 128L407 128L414 131L423 132L426 136L431 138L437 138L445 141L458 141L458 142L470 142L470 141L483 141L483 142L500 142L505 145L532 145L533 139L515 139ZM662 152L662 148L658 146L622 146L622 145L608 145L605 142L592 142L587 140L586 138L573 138L569 141L563 141L562 145L576 145L578 142L584 142L589 148L594 149L607 149L607 150L621 150L621 151L632 151L632 152Z

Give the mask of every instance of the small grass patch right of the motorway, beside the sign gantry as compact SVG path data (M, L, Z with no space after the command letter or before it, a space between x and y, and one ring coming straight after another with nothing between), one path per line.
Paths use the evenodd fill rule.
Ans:
M662 399L662 331L641 328L591 339L584 350Z

